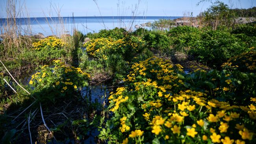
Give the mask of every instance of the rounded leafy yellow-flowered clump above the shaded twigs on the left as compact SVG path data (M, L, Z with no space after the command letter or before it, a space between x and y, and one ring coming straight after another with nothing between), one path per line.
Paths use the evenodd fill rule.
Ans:
M33 86L33 95L39 101L56 102L63 97L78 94L78 90L88 86L90 75L81 68L69 67L60 60L54 60L54 67L44 65L32 75L29 82Z

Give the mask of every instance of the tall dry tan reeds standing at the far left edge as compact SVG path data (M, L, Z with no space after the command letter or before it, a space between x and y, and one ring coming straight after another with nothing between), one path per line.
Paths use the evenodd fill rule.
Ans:
M20 0L6 0L5 9L6 18L0 29L4 45L4 48L0 49L0 55L3 59L15 57L17 53L23 53L26 47L32 45L32 39L26 37L32 34L32 29L25 3Z

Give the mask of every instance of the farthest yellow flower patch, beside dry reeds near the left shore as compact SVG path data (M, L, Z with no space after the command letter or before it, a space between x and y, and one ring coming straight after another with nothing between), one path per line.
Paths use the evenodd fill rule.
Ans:
M48 49L48 48L60 48L64 46L67 46L67 43L65 43L63 40L59 38L55 38L52 36L49 36L43 40L40 40L32 44L32 47L35 50Z

